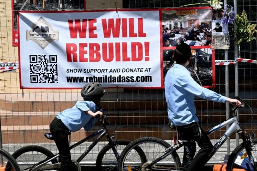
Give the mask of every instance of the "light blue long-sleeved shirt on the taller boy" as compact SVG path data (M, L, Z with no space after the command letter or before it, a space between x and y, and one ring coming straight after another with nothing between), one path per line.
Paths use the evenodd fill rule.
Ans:
M174 64L166 74L165 97L169 120L175 126L198 122L194 105L194 95L203 99L225 103L227 97L200 86L190 72L180 64Z

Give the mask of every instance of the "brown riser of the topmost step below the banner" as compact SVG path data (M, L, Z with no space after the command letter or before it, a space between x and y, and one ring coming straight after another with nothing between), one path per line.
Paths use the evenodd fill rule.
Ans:
M74 106L76 101L4 101L0 99L0 110L12 112L58 112ZM250 102L253 107L257 106L257 99ZM102 101L101 107L106 111L115 110L138 110L138 111L163 111L167 110L165 100L145 100L145 101ZM225 109L225 104L215 103L206 100L196 100L195 107L201 110Z

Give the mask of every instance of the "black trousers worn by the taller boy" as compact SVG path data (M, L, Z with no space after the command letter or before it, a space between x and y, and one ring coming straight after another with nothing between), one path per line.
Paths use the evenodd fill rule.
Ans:
M178 126L177 131L180 135L180 139L185 142L183 165L188 160L188 156L193 158L192 162L186 169L187 171L199 171L209 160L208 155L212 151L213 145L206 135L202 127L197 123L193 122L188 125ZM192 141L194 140L194 141ZM195 155L196 144L200 147L200 150ZM194 157L195 155L195 157Z

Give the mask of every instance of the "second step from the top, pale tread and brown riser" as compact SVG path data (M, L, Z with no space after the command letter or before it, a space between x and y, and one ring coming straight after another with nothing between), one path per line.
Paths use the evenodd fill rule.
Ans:
M245 110L240 114L240 122L250 120L250 111ZM11 112L0 110L2 126L36 126L49 125L59 112ZM168 123L166 110L126 110L106 111L107 120L113 124L165 124ZM226 120L224 110L197 110L200 123L210 126Z

